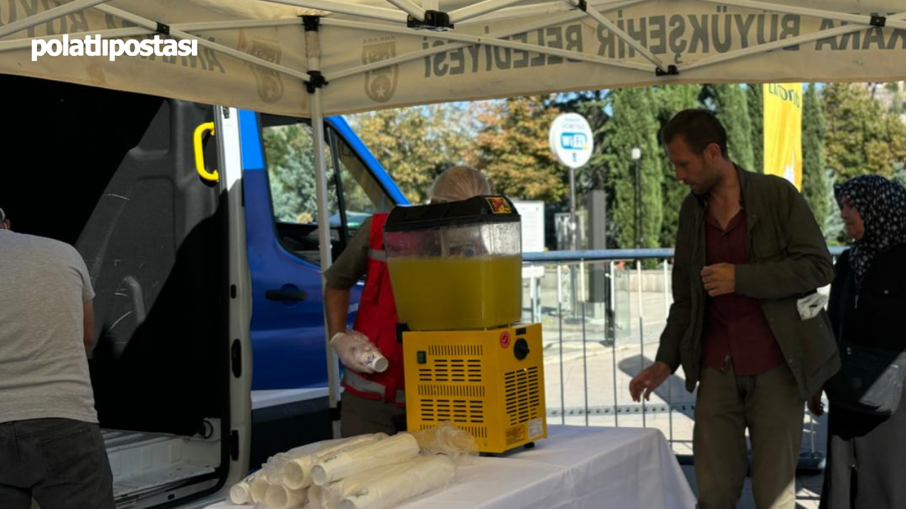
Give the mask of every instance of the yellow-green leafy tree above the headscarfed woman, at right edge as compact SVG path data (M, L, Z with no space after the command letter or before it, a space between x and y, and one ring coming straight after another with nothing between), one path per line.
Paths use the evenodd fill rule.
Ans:
M863 85L832 83L822 90L827 166L836 182L863 174L891 177L906 158L906 126Z

